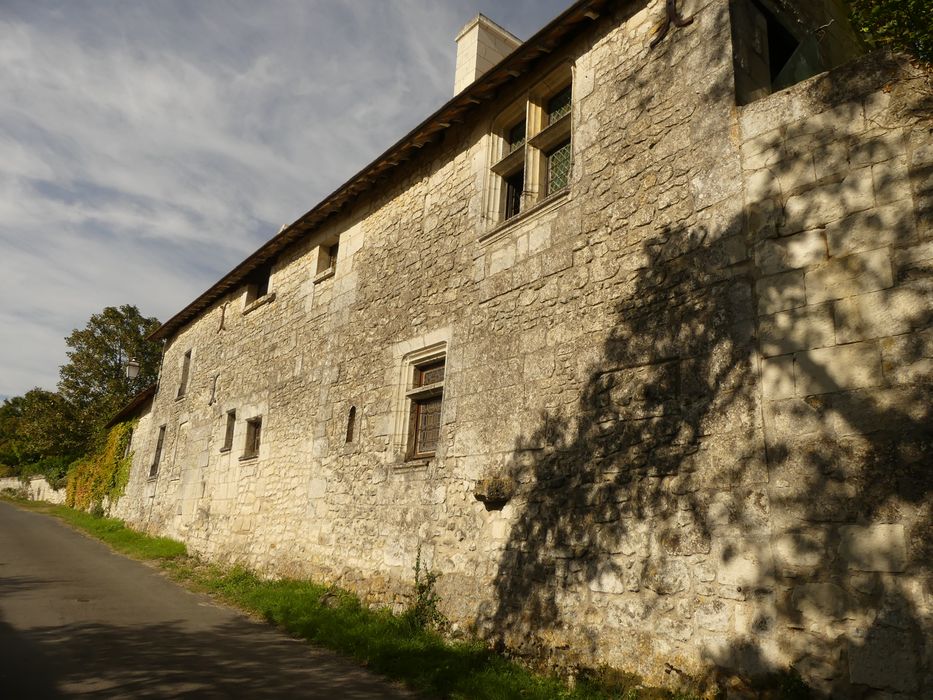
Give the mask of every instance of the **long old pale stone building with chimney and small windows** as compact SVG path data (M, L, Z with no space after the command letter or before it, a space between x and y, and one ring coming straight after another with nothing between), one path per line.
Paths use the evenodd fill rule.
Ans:
M390 605L420 552L529 658L929 696L929 82L847 31L477 18L447 104L155 332L117 514Z

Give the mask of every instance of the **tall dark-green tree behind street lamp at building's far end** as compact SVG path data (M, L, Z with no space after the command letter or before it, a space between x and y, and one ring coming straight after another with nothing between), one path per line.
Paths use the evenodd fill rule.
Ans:
M158 326L158 319L144 317L135 306L108 306L65 338L71 350L59 370L58 390L74 407L86 446L124 404L158 377L161 348L146 340ZM126 377L130 358L140 365L136 379Z

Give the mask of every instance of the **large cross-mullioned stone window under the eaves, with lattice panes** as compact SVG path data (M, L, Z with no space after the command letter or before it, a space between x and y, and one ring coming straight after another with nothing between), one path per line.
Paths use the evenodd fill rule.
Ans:
M496 119L488 192L492 226L570 184L573 86L562 66Z

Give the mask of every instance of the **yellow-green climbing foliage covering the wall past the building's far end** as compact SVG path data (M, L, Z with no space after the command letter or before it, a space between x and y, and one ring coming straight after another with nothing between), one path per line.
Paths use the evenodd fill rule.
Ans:
M111 428L103 443L68 471L65 503L80 510L100 510L104 499L111 503L123 495L129 480L132 453L127 452L134 423Z

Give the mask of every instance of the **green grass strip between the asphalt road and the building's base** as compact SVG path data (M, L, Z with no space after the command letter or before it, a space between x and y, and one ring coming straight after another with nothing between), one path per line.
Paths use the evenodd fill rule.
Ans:
M128 556L155 561L188 588L258 615L293 637L352 657L428 696L456 700L692 697L644 687L637 676L601 670L569 687L560 679L529 671L481 642L447 640L418 625L411 614L371 609L342 589L306 580L265 580L241 566L223 567L189 557L184 544L144 535L120 520L67 506L4 498L61 518Z

